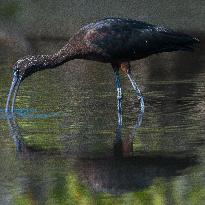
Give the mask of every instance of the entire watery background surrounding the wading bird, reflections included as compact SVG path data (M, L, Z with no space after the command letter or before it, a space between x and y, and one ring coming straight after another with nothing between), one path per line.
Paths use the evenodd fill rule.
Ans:
M205 204L204 1L0 1L0 204ZM20 87L15 118L4 113L11 67L52 53L81 25L119 16L185 31L194 53L132 63L117 130L110 65L74 60ZM121 137L121 138L120 138Z

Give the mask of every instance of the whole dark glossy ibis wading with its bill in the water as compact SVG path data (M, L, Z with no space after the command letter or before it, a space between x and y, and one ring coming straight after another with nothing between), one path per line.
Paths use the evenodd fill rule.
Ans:
M122 90L119 70L127 74L137 97L141 112L144 112L144 100L134 81L130 61L145 58L161 52L193 50L197 38L175 32L163 26L145 22L107 18L82 27L69 42L53 55L26 56L13 66L13 81L8 94L6 112L14 111L14 104L20 83L37 71L56 68L73 59L86 59L111 63L115 73L118 99L118 114L121 116ZM12 99L11 110L9 104ZM121 117L118 115L119 123Z

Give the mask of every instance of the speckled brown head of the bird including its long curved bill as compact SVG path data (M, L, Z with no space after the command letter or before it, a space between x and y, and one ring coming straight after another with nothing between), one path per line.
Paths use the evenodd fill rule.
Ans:
M21 82L37 70L39 70L39 57L38 56L26 56L24 58L19 59L13 66L13 80L11 84L11 88L9 91L9 95L7 98L6 103L6 112L9 112L9 104L11 101L11 98L13 96L12 100L12 107L11 112L13 112L14 104L15 104L15 98L18 92L18 88L21 84Z

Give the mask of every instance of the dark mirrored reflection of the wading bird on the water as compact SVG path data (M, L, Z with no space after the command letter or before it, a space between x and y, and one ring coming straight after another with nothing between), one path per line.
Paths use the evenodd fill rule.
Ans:
M93 155L79 157L72 162L72 169L75 170L79 182L84 183L94 192L118 195L147 188L158 177L170 180L172 177L183 175L185 169L197 164L196 156L186 152L133 153L133 139L136 136L137 128L142 123L142 117L143 113L139 113L131 134L124 140L121 138L122 124L118 124L113 146L114 155L107 156L105 154L104 157L101 155L99 158ZM22 141L14 115L8 116L8 124L17 151L23 154L25 152L32 154L32 149L27 148ZM43 155L46 153L44 152ZM55 155L52 156L55 157ZM69 161L69 156L63 155L62 159L65 158Z

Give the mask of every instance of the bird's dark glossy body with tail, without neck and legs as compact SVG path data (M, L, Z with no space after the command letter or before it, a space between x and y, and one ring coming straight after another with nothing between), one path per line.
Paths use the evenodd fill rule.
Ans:
M189 35L162 26L108 18L82 27L69 43L77 51L77 58L118 63L154 53L190 50L196 41Z

